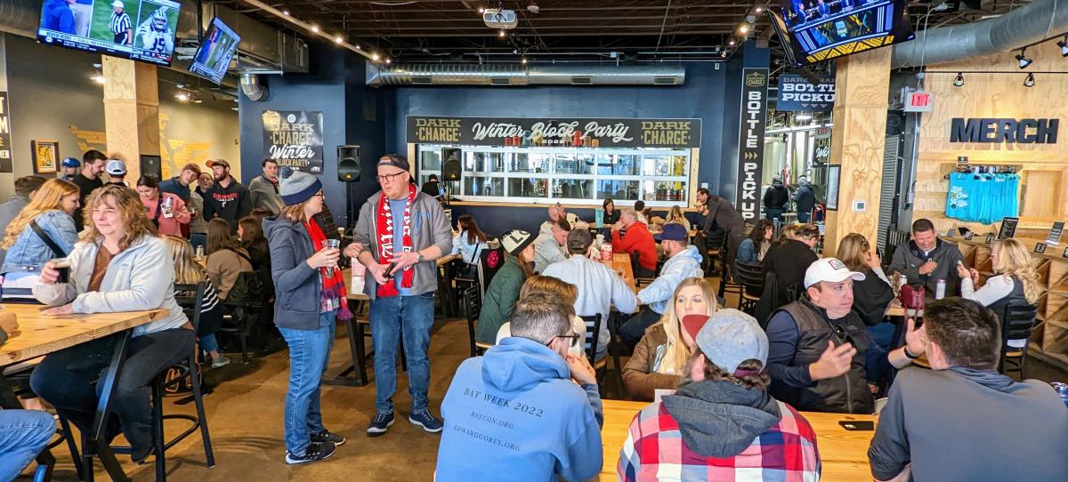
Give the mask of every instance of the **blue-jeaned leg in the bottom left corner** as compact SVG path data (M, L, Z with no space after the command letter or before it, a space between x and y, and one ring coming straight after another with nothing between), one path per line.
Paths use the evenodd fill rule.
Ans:
M47 412L0 411L0 480L15 480L53 433L56 420Z

